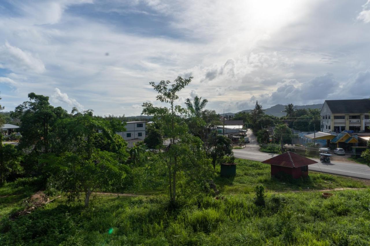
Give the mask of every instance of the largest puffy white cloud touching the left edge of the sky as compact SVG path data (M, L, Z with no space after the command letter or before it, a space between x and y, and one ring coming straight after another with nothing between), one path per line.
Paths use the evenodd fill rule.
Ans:
M45 66L40 59L33 57L30 52L11 46L7 41L0 47L0 58L3 67L13 71L19 71L21 69L38 74L45 71Z

